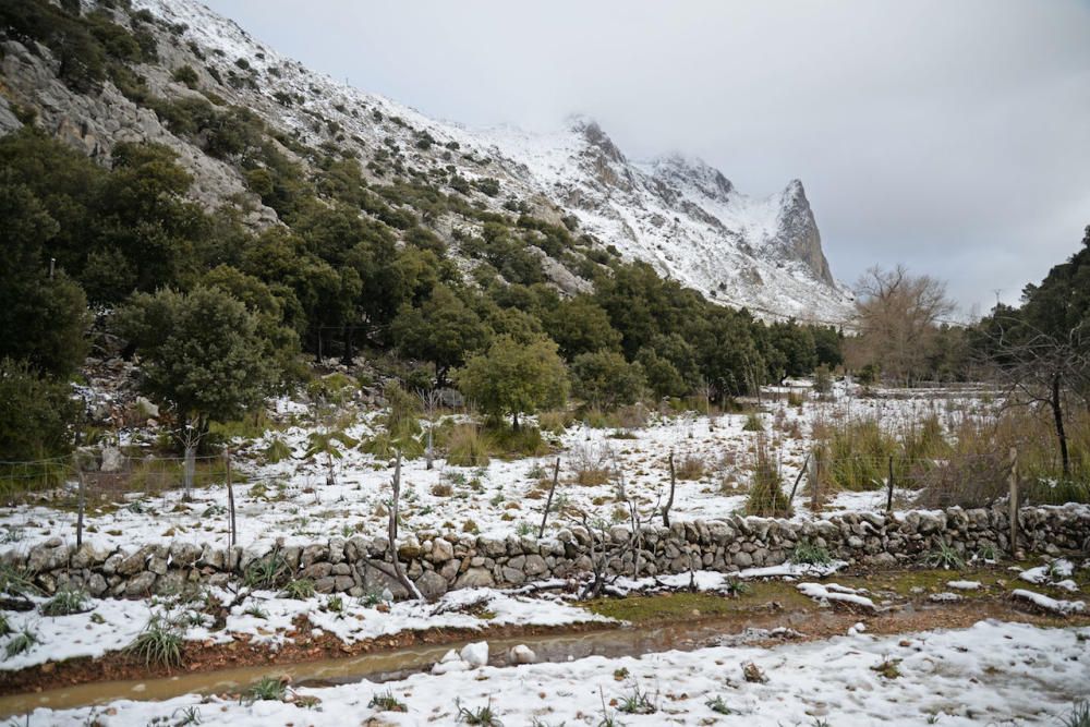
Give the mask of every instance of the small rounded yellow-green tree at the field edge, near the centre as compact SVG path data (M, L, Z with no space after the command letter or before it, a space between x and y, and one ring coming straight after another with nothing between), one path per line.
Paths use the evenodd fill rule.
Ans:
M519 414L560 405L568 396L564 362L547 338L520 343L500 336L486 353L470 359L455 380L484 413L495 419L510 414L516 431Z

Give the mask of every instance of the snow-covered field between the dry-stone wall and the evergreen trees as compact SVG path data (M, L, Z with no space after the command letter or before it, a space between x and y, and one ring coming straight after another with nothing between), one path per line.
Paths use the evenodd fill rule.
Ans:
M560 459L557 504L593 513L605 521L627 521L617 502L620 480L616 476L594 484L579 484L581 468L596 467L620 472L623 487L645 509L665 502L669 487L667 459L675 453L679 467L687 460L701 463L697 478L679 478L671 514L679 520L715 519L738 512L744 506L751 468L759 440L782 471L784 487L791 488L812 444L816 422L844 419L874 419L896 432L930 415L940 421L986 411L986 404L971 393L925 390L916 396L899 390L896 398L861 398L843 388L834 401L809 396L804 403L790 405L786 389L770 390L779 400L761 404L762 431L747 431L747 416L724 414L715 417L688 413L659 415L652 412L647 425L630 429L592 428L576 424L552 437L556 452L542 458L504 461L493 458L486 467L452 467L436 460L425 469L423 458L407 461L402 471L401 517L404 532L479 532L485 535L536 534L545 507L547 481L553 464ZM282 416L296 419L305 408L290 401L278 402ZM347 428L354 440L365 441L380 428L380 412L364 412ZM265 549L277 538L287 544L306 544L330 536L377 535L385 531L389 501L391 462L340 447L335 460L336 484L326 482L324 457L304 457L308 426L287 426L267 432L262 438L234 443L237 471L246 482L235 487L238 542ZM277 463L265 461L265 450L279 439L292 457ZM795 498L796 518L813 517L809 510L806 482ZM69 500L74 495L69 493ZM885 492L838 493L827 499L821 516L849 510L885 509ZM71 504L71 502L70 502ZM85 541L101 548L131 548L134 543L183 540L226 545L227 493L222 486L197 489L193 501L183 501L179 489L161 495L131 493L118 508L88 511ZM911 493L898 490L895 508L911 507ZM560 509L560 508L557 508ZM546 534L572 524L553 517ZM35 542L59 536L74 540L75 514L46 505L8 509L0 516L0 541L9 548L25 548Z

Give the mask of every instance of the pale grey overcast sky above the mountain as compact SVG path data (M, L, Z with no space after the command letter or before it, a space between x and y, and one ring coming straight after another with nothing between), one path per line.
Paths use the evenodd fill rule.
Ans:
M800 178L833 274L1015 302L1090 223L1090 2L206 0L306 65L468 125L598 120L751 195ZM531 7L532 5L532 7Z

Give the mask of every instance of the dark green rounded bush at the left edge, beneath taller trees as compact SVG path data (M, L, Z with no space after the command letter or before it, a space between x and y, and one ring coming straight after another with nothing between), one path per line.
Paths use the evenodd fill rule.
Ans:
M37 374L24 362L0 360L0 460L32 461L69 453L82 416L71 386ZM4 474L0 472L0 477Z

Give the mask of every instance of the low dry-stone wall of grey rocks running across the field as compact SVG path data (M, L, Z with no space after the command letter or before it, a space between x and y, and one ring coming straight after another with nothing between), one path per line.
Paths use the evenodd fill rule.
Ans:
M1090 508L1086 506L1024 508L1019 512L1020 546L1029 553L1061 555L1090 549ZM595 553L607 556L606 570L633 574L688 572L692 569L737 571L775 566L808 538L834 557L873 567L918 564L938 542L962 555L1008 549L1006 510L950 508L944 511L848 513L827 520L791 522L730 517L724 520L674 522L641 532L642 547L620 548L632 533L615 526L594 534ZM416 533L399 548L400 559L416 587L428 598L451 589L518 586L548 578L580 577L591 570L591 537L576 528L555 538L502 538L456 533ZM0 560L25 569L47 593L75 587L100 597L143 597L177 592L186 583L222 585L244 579L247 571L275 559L281 579L306 578L319 593L363 595L389 590L407 593L375 564L384 560L383 537L332 537L306 546L280 545L256 553L241 546L223 548L184 541L148 544L133 550L106 552L85 543L75 549L59 537L29 549L9 549Z

